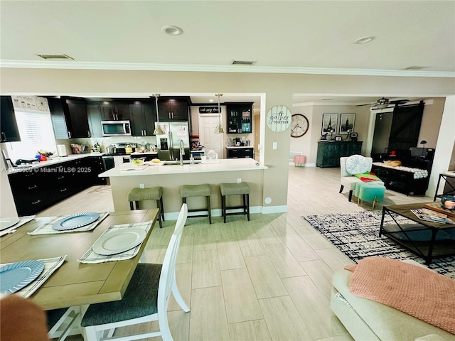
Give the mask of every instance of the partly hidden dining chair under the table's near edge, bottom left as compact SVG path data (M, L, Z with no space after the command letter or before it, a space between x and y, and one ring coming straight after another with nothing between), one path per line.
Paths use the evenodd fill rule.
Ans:
M46 310L48 319L48 337L55 341L66 340L73 330L73 326L78 325L77 320L80 320L80 306L61 308L54 310Z

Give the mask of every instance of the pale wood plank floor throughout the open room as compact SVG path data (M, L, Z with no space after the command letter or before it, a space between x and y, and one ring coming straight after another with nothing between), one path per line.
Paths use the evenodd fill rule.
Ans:
M301 218L371 210L369 202L348 202L348 193L339 194L339 189L339 168L289 166L289 212L251 215L250 222L231 216L226 224L221 217L214 217L213 224L207 218L188 219L177 281L191 312L183 313L171 298L168 318L174 340L352 340L329 306L333 272L352 261ZM432 197L387 190L382 204L430 201ZM86 210L113 210L108 188L90 188L40 216ZM163 229L154 229L147 261L163 261L174 224L166 221ZM156 323L132 330L154 328ZM129 331L124 328L117 335Z

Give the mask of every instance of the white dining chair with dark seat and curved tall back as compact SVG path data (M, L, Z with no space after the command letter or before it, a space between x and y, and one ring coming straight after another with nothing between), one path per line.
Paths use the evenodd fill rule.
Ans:
M156 320L159 323L158 331L123 337L116 335L115 340L139 340L156 336L161 336L164 341L173 340L167 315L171 293L183 311L190 311L176 283L176 259L187 217L188 207L183 204L162 265L137 264L122 300L89 305L81 322L85 340L109 340L116 328Z

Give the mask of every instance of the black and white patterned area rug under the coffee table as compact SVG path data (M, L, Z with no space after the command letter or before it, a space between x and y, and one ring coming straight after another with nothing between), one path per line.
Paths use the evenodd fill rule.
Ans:
M368 256L382 256L391 259L413 259L424 264L424 260L419 256L400 247L387 237L379 237L381 215L380 211L363 211L306 215L302 218L355 263ZM409 222L405 217L398 217L397 221ZM385 224L388 222L393 223L390 217L385 217ZM455 279L455 257L453 256L434 259L429 268Z

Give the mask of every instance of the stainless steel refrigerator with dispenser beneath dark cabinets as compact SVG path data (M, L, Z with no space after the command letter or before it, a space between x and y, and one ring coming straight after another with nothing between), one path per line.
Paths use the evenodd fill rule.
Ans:
M158 122L155 122L155 126ZM180 143L183 141L183 160L190 158L190 130L188 122L160 122L166 134L156 135L156 146L160 160L180 160Z

